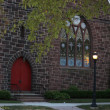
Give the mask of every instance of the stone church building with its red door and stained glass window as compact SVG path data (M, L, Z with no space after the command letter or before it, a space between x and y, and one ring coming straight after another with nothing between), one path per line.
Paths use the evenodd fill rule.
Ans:
M19 0L5 0L2 7L11 21L10 26L14 19L25 20L30 11L22 9ZM67 21L70 34L61 30L59 38L54 40L54 48L42 58L41 64L35 61L37 53L30 52L29 32L24 27L16 32L9 30L0 39L0 90L19 88L41 93L70 85L92 90L94 51L98 53L96 88L110 88L110 16L93 20L75 16L71 20L72 24ZM45 35L47 30L41 25L39 32Z

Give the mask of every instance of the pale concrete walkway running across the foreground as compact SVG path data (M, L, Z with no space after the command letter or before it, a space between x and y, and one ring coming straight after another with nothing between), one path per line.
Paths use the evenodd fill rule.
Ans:
M110 103L97 103L97 105L106 105ZM48 102L23 102L23 103L0 103L0 106L47 106L56 110L83 110L77 108L79 105L91 105L91 103L48 103ZM1 110L1 109L0 109Z

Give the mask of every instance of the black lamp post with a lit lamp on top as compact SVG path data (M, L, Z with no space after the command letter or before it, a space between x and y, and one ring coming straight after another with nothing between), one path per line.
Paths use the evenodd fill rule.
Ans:
M96 61L98 59L98 55L96 52L93 54L93 60L94 60L94 83L93 83L93 100L91 107L97 107L96 104Z

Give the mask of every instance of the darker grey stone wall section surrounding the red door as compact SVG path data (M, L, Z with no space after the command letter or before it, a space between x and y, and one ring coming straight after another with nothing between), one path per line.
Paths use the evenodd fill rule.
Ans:
M21 36L20 27L16 32L11 32L10 28L13 21L25 20L30 10L24 10L19 5L19 0L5 0L2 7L6 11L5 16L11 21L8 33L0 39L0 89L10 89L11 68L17 58L25 57L31 66L32 72L32 91L40 93L43 86L48 86L48 57L42 58L42 63L37 64L35 58L37 53L30 52L31 43L27 40L29 32L25 29L24 37ZM0 21L3 22L2 20ZM46 33L46 29L40 26L39 32ZM39 40L39 38L38 38Z

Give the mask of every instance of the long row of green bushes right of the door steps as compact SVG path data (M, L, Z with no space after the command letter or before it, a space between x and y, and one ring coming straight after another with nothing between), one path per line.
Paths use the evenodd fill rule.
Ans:
M47 99L70 99L70 98L92 98L93 91L79 91L75 86L70 86L67 90L48 91L45 94ZM110 98L110 89L96 91L96 98Z

